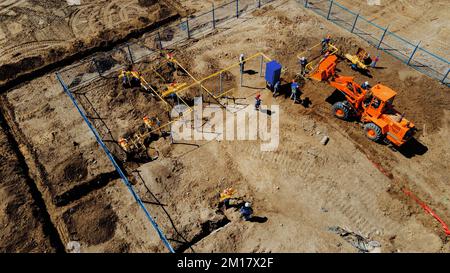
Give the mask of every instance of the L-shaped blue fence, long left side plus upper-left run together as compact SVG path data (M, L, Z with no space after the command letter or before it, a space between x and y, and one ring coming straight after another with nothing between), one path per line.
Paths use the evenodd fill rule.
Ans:
M170 49L191 38L211 33L221 24L232 20L233 18L239 18L239 16L243 15L245 12L260 8L272 1L273 0L234 0L217 8L212 7L209 12L185 18L181 20L181 22L145 35L136 42L122 45L106 53L96 54L94 57L66 67L56 73L57 79L64 92L77 108L79 114L88 125L100 147L103 148L105 154L121 176L123 183L130 190L135 201L144 211L147 219L158 233L163 244L172 253L175 252L175 250L169 243L166 235L145 207L142 199L137 194L124 171L116 162L114 155L105 145L103 135L99 133L102 128L97 128L95 123L91 123L87 115L88 110L83 107L84 105L76 99L74 94L77 91L87 92L87 90L83 90L83 87L97 79L115 77L116 75L111 76L112 73L122 69L127 64L138 64L143 60L151 61L152 58L157 58L159 56L161 49Z

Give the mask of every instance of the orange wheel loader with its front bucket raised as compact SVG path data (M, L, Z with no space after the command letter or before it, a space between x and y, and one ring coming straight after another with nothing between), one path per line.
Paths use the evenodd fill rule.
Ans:
M413 137L416 128L395 110L393 101L397 93L391 88L377 84L364 89L354 81L354 77L336 74L337 57L324 58L310 78L325 81L335 87L344 96L344 101L333 105L337 118L359 119L364 124L366 136L373 141L384 140L399 147Z

